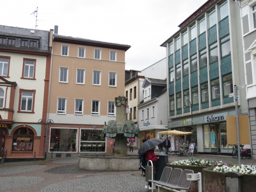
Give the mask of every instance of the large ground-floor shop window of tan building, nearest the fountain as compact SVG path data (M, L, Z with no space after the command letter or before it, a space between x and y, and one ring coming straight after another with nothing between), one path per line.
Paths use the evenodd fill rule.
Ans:
M105 152L102 129L81 129L80 152Z

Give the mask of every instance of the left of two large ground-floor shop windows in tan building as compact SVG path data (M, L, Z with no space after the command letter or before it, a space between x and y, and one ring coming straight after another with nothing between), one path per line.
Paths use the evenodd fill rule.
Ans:
M74 128L51 128L49 152L65 152L69 149L76 152L77 133L78 129Z

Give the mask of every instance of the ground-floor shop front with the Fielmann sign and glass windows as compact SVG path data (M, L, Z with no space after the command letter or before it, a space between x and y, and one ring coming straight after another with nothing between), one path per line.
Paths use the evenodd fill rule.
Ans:
M193 140L201 153L231 153L232 146L227 142L226 116L234 116L235 111L206 114L193 117ZM191 132L191 119L169 123L172 130ZM191 136L188 140L191 142Z

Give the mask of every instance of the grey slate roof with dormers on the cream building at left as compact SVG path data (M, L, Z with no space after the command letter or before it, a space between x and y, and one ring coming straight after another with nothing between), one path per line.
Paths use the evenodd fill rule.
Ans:
M31 30L34 31L34 33L31 33ZM10 49L19 49L19 50L22 49L22 50L34 50L39 52L48 52L49 33L50 33L49 31L45 31L45 30L0 25L0 36L39 40L39 50L35 48L24 48L24 47L20 48L20 47L14 47L14 46L1 46L1 47L10 48Z

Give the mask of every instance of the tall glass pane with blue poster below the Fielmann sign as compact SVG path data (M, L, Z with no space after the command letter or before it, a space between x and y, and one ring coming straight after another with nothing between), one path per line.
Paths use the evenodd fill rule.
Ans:
M204 152L219 153L219 124L204 125Z

